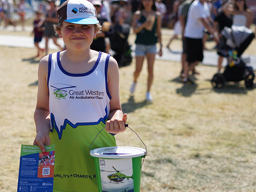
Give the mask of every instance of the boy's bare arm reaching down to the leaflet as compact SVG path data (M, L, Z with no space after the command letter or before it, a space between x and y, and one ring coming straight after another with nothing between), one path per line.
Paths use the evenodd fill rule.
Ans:
M34 113L36 137L34 145L38 145L42 152L45 145L50 145L50 117L49 117L49 92L47 86L48 56L42 58L38 67L38 96Z

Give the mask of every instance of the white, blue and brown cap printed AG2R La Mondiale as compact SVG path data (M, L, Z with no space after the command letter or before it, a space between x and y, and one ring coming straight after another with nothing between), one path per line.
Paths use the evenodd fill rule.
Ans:
M88 0L67 0L57 10L58 21L73 24L97 24L97 12Z

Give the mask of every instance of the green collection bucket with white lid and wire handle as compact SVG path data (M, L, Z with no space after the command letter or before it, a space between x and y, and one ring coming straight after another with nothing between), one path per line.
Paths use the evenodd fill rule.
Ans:
M140 191L142 158L144 160L146 156L146 149L101 147L90 150L90 156L94 158L99 192Z

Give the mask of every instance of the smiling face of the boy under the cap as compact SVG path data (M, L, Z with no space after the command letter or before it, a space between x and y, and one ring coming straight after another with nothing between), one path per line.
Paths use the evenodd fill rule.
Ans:
M67 48L81 49L90 48L93 38L96 37L94 25L73 24L63 21L59 37Z

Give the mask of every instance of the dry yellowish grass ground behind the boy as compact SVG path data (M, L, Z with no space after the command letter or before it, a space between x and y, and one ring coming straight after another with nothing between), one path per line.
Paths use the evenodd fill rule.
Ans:
M253 45L248 52L255 53ZM17 191L21 144L35 137L35 54L0 47L0 192ZM129 126L147 146L141 192L256 192L256 89L239 82L214 90L217 69L205 65L197 67L198 87L183 85L180 63L156 61L154 100L146 103L146 65L129 94L134 68L135 59L120 68L120 94ZM131 130L116 139L119 146L143 147Z

